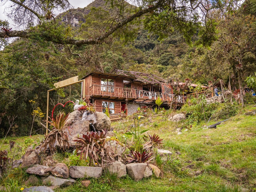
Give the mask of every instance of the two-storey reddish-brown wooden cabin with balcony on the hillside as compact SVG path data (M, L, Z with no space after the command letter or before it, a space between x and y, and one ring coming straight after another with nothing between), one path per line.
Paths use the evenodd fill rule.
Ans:
M167 105L174 96L172 86L153 74L116 70L116 74L95 72L82 79L85 98L94 103L98 112L105 112L108 108L110 115L121 111L130 115L141 104L155 105L157 97ZM185 102L182 95L177 100L178 103Z

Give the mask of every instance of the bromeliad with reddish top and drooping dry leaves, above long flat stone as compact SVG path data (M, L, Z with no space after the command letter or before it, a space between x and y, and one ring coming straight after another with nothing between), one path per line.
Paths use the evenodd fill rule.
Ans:
M80 160L87 160L89 157L89 166L92 163L96 166L103 166L104 163L114 161L115 153L108 145L106 145L107 130L102 132L87 132L83 137L77 137L76 151L81 150Z

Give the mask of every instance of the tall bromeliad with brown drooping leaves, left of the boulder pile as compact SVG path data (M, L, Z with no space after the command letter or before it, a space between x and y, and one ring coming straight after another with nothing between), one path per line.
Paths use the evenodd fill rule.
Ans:
M44 149L44 152L46 151L47 147L49 147L51 153L55 152L56 144L58 144L61 150L69 148L68 133L67 131L65 131L65 129L68 128L68 115L69 113L67 115L64 115L64 113L60 113L56 116L56 119L51 119L49 117L51 121L46 121L50 125L52 125L53 128L52 131L45 136L45 140L41 146L41 148Z

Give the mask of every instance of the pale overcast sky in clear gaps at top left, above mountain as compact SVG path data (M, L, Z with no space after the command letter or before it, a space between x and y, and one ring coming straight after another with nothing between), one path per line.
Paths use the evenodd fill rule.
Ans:
M74 8L80 7L80 8L84 8L86 7L88 4L92 3L93 0L70 0L70 4L74 6ZM10 1L7 1L4 5L3 3L0 1L0 20L8 20L8 18L4 15L4 8L8 7L11 4ZM10 27L11 28L15 28L13 25L12 20L8 20L10 23Z

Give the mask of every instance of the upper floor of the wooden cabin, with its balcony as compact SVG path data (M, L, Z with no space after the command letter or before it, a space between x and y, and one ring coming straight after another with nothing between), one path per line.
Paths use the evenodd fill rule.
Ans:
M185 102L183 95L174 98L172 86L165 82L143 82L131 76L104 73L90 73L83 79L86 99L150 102L160 97L164 102Z

